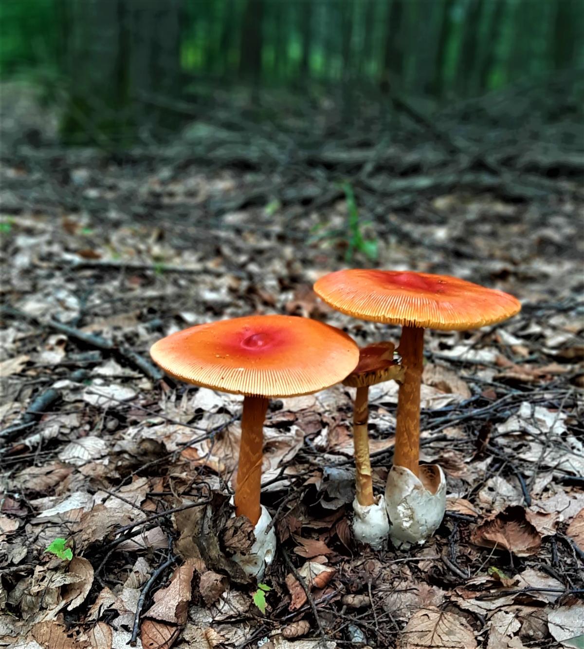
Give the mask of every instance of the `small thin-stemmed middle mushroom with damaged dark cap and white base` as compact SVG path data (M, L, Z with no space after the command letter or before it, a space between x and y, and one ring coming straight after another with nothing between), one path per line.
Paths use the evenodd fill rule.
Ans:
M359 362L343 384L355 387L353 408L353 445L355 446L355 491L353 500L353 533L357 541L379 549L390 530L390 522L383 495L373 495L371 460L369 459L369 386L397 379L403 369L393 360L395 345L374 343L359 350Z

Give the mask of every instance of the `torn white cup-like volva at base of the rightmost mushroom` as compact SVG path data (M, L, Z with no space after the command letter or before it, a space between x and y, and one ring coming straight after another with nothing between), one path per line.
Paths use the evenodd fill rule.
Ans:
M390 519L390 539L397 547L422 544L442 522L446 510L446 476L438 465L432 469L437 480L434 490L423 484L412 471L391 467L385 489Z

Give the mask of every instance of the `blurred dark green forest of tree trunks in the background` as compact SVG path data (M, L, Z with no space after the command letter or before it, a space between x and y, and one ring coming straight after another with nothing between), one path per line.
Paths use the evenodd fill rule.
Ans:
M310 105L329 124L355 125L391 121L404 100L430 118L470 100L460 117L480 117L472 100L509 88L510 121L578 120L584 104L582 0L0 6L2 78L32 84L59 107L64 143L160 138L218 108L279 121Z

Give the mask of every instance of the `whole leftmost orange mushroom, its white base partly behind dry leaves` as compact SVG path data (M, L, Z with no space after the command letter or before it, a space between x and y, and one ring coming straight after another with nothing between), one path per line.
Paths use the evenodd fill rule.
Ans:
M355 342L328 324L289 315L251 315L200 324L152 345L170 376L244 395L235 515L255 526L255 543L233 557L261 578L275 552L268 510L260 504L263 424L268 399L318 392L342 381L358 362Z

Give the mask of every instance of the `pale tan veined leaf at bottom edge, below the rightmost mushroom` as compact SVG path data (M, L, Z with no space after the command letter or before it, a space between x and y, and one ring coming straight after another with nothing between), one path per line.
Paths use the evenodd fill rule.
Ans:
M466 620L428 607L410 618L397 646L399 649L476 649L477 645Z

